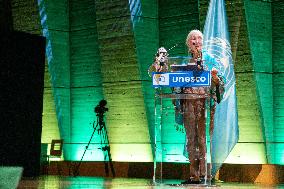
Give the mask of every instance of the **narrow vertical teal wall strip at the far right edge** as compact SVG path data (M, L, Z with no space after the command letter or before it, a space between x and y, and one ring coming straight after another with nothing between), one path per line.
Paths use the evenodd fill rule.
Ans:
M273 0L272 12L272 65L273 65L273 152L271 163L284 164L284 2Z

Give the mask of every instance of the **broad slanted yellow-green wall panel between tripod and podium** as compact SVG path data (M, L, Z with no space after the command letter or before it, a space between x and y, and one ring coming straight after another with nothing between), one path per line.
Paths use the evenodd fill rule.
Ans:
M152 161L129 2L98 0L95 4L102 84L110 109L106 123L113 160ZM144 12L144 7L141 11ZM144 17L141 15L141 19Z

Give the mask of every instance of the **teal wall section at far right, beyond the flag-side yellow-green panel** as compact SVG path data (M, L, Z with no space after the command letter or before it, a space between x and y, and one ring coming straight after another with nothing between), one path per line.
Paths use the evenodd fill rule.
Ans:
M283 41L283 34L277 34L283 24L275 21L280 12L279 1L245 1L248 36L254 66L257 96L263 128L263 139L268 163L283 164L283 125L281 124L281 100L283 80L281 78L281 58L275 56L274 48ZM283 3L282 3L283 6ZM278 32L274 31L278 29ZM282 32L280 32L282 33ZM278 39L275 41L275 35ZM281 43L280 43L281 44ZM283 44L283 43L282 43ZM283 46L282 46L283 52ZM279 54L279 50L276 52ZM283 60L283 59L282 59Z

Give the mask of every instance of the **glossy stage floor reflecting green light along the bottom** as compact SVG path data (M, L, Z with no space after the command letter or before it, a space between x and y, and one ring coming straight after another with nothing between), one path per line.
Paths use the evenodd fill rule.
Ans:
M278 188L284 189L284 184L269 186L248 183L216 183L215 186L202 185L177 185L180 180L166 180L167 184L153 184L151 179L136 178L103 178L103 177L59 177L59 176L42 176L38 178L23 178L18 189L182 189L182 188L218 188L218 189L258 189L258 188Z

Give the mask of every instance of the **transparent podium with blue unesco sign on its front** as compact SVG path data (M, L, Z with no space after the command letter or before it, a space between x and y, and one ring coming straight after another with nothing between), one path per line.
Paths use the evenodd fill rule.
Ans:
M180 59L180 58L179 58ZM177 59L174 59L177 60ZM200 167L205 169L204 180L202 185L211 185L211 155L210 155L210 95L209 88L211 82L210 72L196 74L195 71L188 70L188 65L184 59L170 64L170 71L152 74L153 87L155 87L155 149L154 149L154 175L153 182L155 184L169 184L173 179L187 180L189 179L189 157L187 144L187 132L185 129L185 121L189 118L190 109L186 108L187 102L202 102L204 107L202 111L202 119L204 119L204 137L206 150L202 164ZM171 62L171 61L169 61ZM180 64L178 64L180 63ZM173 65L173 66L172 66ZM175 68L175 70L173 69ZM176 69L182 69L181 71ZM171 82L171 75L179 74L179 76L196 78L201 74L207 74L207 80L200 84L197 80L179 82ZM209 75L208 75L209 74ZM164 78L169 82L164 82ZM206 80L206 81L207 81ZM185 85L184 83L188 83ZM161 85L159 85L161 84ZM187 89L194 87L195 89L203 88L202 93L188 93ZM190 154L189 154L190 156ZM202 155L201 155L202 156ZM201 162L201 161L200 161ZM208 177L209 176L209 177ZM179 181L180 183L180 181Z

